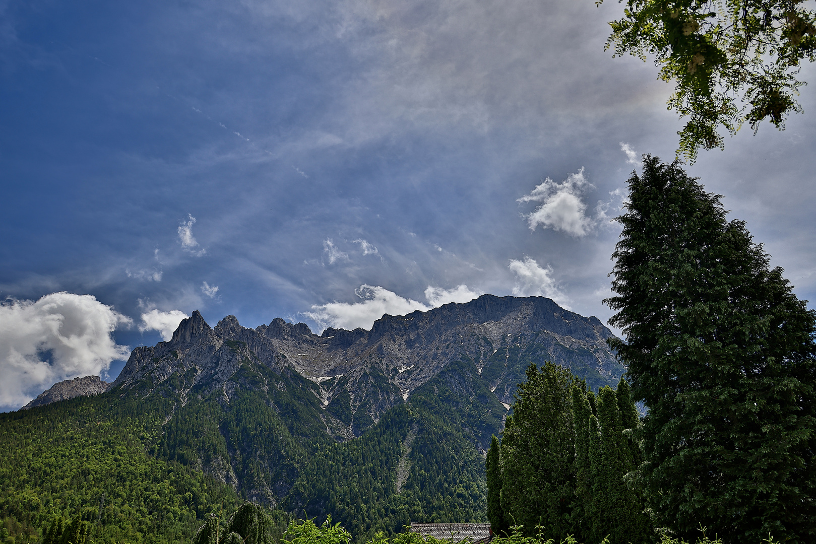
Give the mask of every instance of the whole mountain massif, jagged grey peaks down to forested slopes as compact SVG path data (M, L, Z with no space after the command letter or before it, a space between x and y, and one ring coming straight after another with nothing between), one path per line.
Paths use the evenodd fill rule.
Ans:
M0 468L9 482L0 514L41 529L48 515L99 506L122 467L83 472L82 484L60 472L126 444L120 456L152 467L149 480L165 491L109 492L140 512L133 521L131 510L104 506L100 525L121 537L188 536L193 520L239 497L330 514L361 540L409 521L483 521L484 450L527 365L552 360L592 388L616 383L623 367L610 335L541 297L483 295L321 336L281 319L246 329L228 316L211 328L193 312L171 341L137 347L107 393L0 415L0 448L15 459ZM43 471L34 452L57 444L69 449ZM168 517L168 488L211 493L185 490ZM47 497L39 517L26 518L23 495Z

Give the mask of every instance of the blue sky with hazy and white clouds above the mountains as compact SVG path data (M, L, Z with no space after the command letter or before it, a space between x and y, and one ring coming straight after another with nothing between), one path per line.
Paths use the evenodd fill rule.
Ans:
M604 51L620 10L0 2L0 409L112 378L193 310L319 331L543 294L605 321L619 189L682 126L653 64ZM814 299L800 100L689 171Z

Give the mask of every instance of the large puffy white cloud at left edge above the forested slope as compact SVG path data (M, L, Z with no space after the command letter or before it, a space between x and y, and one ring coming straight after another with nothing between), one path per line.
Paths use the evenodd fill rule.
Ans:
M0 303L0 405L22 406L54 383L98 376L126 359L130 347L111 333L131 323L90 294Z

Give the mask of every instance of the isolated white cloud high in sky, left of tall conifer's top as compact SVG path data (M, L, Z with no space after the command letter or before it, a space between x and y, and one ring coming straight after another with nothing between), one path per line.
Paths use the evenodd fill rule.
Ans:
M539 225L564 231L574 237L583 237L592 229L592 219L586 215L587 205L581 199L583 192L593 188L583 174L583 167L577 174L570 174L561 184L552 179L536 186L529 195L518 202L541 202L531 214L526 215L530 230Z

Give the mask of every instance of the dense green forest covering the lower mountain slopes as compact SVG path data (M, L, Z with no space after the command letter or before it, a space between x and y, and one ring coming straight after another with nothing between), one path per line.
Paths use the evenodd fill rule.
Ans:
M505 409L472 376L472 361L456 363L344 442L326 432L307 381L251 361L233 380L277 387L239 388L228 404L213 391L177 405L184 377L171 377L146 397L149 383L2 414L3 535L41 542L55 520L79 516L95 542L180 542L207 515L224 523L244 498L264 502L280 523L298 512L330 515L355 542L410 521L486 521L473 440L498 432Z

